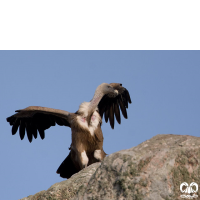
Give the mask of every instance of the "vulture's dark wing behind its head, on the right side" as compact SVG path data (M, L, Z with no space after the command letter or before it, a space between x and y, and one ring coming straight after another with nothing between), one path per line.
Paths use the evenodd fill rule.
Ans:
M128 108L128 103L131 103L131 98L128 90L122 87L122 84L111 83L110 85L118 91L118 95L114 98L104 95L98 104L98 108L100 116L103 117L104 114L106 123L109 119L110 126L114 129L114 116L117 122L121 123L120 110L124 118L128 118L126 109Z

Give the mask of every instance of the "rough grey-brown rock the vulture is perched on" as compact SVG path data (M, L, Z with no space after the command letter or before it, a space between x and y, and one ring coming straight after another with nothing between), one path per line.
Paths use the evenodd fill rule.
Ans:
M182 193L183 182L200 185L200 138L157 135L22 200L200 199L197 185Z

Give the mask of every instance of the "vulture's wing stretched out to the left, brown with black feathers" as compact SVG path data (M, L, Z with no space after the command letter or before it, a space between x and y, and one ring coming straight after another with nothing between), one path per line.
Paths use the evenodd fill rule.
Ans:
M37 131L40 137L44 139L45 130L56 124L60 126L69 126L70 113L64 110L46 108L40 106L29 106L22 110L16 110L14 114L7 118L7 122L12 126L12 134L15 135L19 127L21 140L24 139L25 130L29 142L32 138L37 138Z

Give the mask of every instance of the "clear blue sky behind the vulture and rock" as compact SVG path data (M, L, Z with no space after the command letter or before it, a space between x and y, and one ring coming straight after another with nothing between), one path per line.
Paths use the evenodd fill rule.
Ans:
M157 134L200 136L200 51L0 51L0 194L15 200L63 181L71 130L20 140L6 118L45 106L69 112L90 101L103 82L122 83L132 104L115 129L103 120L104 151L128 149Z

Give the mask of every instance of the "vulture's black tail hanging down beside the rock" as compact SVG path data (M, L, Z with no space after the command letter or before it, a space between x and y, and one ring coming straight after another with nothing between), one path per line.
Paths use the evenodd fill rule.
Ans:
M79 172L79 170L76 169L71 159L70 152L69 155L65 158L65 160L61 163L56 173L60 174L60 177L62 178L70 178L73 174L77 172Z

